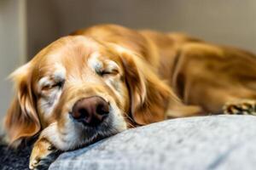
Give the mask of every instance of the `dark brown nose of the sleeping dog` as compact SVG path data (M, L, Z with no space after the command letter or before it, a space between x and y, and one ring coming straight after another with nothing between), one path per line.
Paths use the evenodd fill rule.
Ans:
M85 126L96 127L108 116L108 113L108 102L95 96L77 101L71 115Z

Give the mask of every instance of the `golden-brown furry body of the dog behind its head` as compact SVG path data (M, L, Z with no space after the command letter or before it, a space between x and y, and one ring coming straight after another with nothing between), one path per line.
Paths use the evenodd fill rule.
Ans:
M191 111L173 105L168 116L223 113L226 102L256 99L256 55L194 37L96 26L75 34L97 37L140 54ZM148 68L149 69L149 68ZM176 109L178 110L176 112ZM174 111L175 112L174 112Z

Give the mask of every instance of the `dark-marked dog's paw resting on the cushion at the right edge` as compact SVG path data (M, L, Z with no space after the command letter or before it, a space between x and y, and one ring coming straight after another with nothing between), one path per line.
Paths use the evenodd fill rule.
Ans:
M223 107L224 114L256 116L256 101L250 99L228 102Z

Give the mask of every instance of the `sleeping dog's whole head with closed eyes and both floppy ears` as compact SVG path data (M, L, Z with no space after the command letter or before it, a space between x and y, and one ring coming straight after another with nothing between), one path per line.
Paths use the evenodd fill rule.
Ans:
M57 148L71 150L163 120L172 92L146 63L89 37L53 42L11 75L17 94L5 120L10 143L42 132Z

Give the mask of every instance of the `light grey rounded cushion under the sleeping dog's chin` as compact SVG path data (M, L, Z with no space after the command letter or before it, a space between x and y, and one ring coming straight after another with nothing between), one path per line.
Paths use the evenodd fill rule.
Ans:
M256 169L256 116L179 118L129 129L63 153L49 169Z

